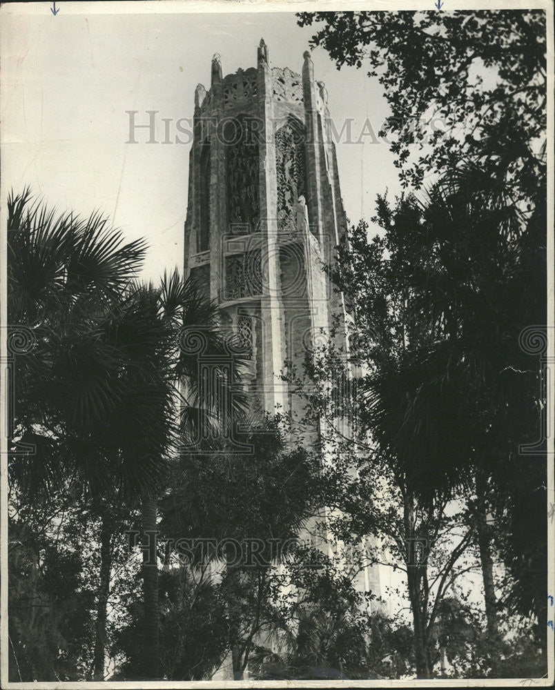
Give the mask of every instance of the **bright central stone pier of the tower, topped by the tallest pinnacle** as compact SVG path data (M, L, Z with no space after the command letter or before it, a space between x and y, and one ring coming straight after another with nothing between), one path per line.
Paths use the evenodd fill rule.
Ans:
M257 55L258 135L260 137L260 232L262 234L262 284L260 300L262 316L262 384L264 408L284 408L284 382L277 380L284 366L284 317L281 297L280 246L277 237L277 179L275 172L275 141L273 136L273 85L269 52L260 40Z

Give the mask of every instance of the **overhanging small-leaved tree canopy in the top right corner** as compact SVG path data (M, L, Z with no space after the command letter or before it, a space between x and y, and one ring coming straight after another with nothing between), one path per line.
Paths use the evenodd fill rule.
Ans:
M302 12L338 68L369 65L391 108L404 186L462 157L487 161L527 199L545 165L545 12ZM429 146L426 146L429 144ZM414 150L419 156L411 159Z

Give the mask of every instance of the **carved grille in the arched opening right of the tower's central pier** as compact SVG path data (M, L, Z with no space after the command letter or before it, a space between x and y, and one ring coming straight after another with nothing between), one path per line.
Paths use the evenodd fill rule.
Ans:
M291 232L297 227L299 197L306 197L304 128L291 120L275 132L277 175L277 228Z

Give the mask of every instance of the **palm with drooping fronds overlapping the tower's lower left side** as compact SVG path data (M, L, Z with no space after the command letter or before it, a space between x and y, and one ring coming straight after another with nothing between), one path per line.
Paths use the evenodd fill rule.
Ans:
M139 288L133 293L144 313L150 306L153 328L158 342L154 344L148 367L138 373L148 379L148 395L141 414L148 423L135 429L130 445L122 449L126 457L137 457L138 444L142 457L160 469L169 455L179 451L179 439L195 440L202 427L213 428L228 423L228 413L242 410L244 399L233 391L238 379L241 360L233 357L233 339L220 330L220 311L199 291L195 282L182 281L174 270L164 274L161 286ZM195 341L195 347L184 346ZM201 344L199 348L198 345ZM206 376L202 357L211 357L211 377ZM222 400L231 407L222 406ZM133 419L124 428L134 428ZM140 417L139 417L140 418ZM145 422L142 419L142 422ZM138 485L142 502L143 581L145 607L145 667L149 678L159 678L159 605L157 590L157 502L166 475L159 473L157 480Z

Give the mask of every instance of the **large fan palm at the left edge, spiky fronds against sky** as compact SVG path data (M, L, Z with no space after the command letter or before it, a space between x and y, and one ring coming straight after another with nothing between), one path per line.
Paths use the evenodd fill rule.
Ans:
M32 203L27 188L8 198L8 319L24 326L35 348L17 361L14 438L35 453L16 455L10 479L28 499L64 487L85 493L101 516L101 566L95 677L104 676L110 577L110 453L97 437L121 400L121 352L108 337L110 315L142 265L145 244L122 242L107 219L57 215Z

